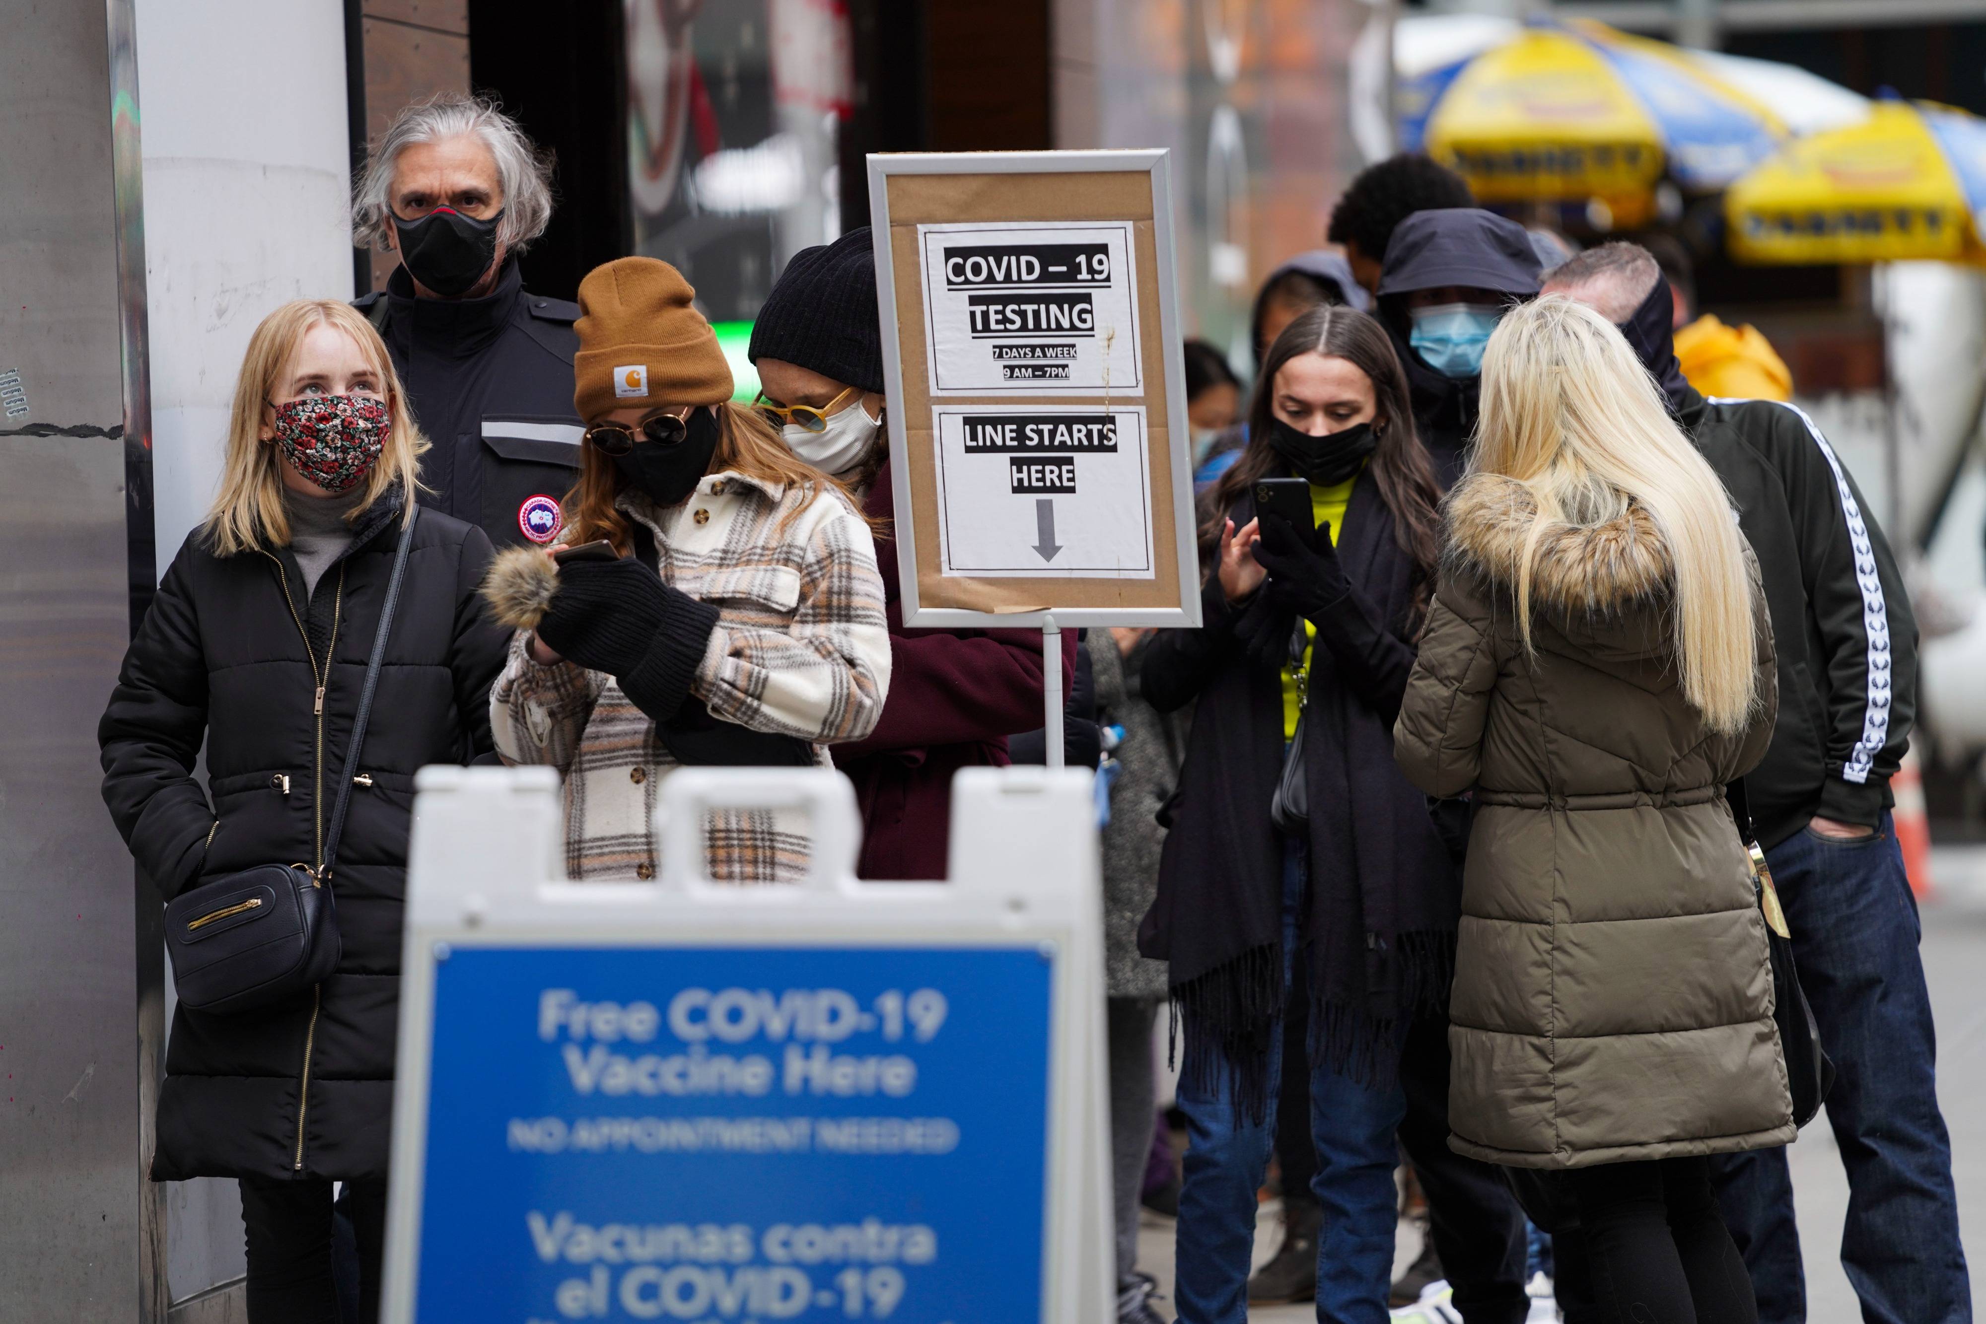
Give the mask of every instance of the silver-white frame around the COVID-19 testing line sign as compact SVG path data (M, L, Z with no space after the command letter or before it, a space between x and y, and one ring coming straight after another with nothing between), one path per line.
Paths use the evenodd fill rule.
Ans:
M896 264L892 262L892 230L890 230L890 177L894 175L1059 175L1059 173L1100 173L1100 171L1126 171L1144 173L1152 183L1152 238L1158 254L1158 270L1152 274L1158 286L1158 308L1136 308L1138 314L1138 337L1156 337L1164 363L1162 383L1142 383L1136 393L1124 395L1116 393L1118 399L1112 401L1112 409L1128 409L1144 403L1150 395L1162 395L1166 401L1166 433L1168 447L1164 455L1150 455L1152 464L1168 464L1172 474L1172 546L1158 546L1156 528L1152 522L1150 508L1146 512L1146 540L1156 558L1154 564L1170 558L1178 568L1180 601L1168 605L1138 605L1138 607L1082 607L1082 605L1057 605L1041 611L981 611L967 607L937 607L923 605L918 594L918 534L916 534L916 510L912 500L912 474L908 464L910 453L910 417L906 413L904 395L904 355L902 337L898 330L898 290L896 290ZM1166 149L1128 149L1128 151L975 151L975 153L872 153L868 157L868 187L870 187L870 228L876 242L876 302L882 310L882 365L884 365L884 387L888 393L888 427L890 427L890 459L892 459L892 484L896 496L896 558L898 574L902 580L902 609L904 625L916 629L1017 629L1017 627L1070 627L1070 625L1158 625L1158 627L1198 627L1200 619L1200 552L1196 544L1196 522L1194 522L1194 459L1192 459L1192 437L1186 423L1186 359L1180 351L1184 345L1184 331L1180 328L1180 300L1178 300L1178 244L1174 236L1174 214L1172 214L1172 165L1170 153ZM967 218L961 218L967 220ZM1043 218L1051 220L1051 218ZM987 228L1027 228L1025 220L987 220ZM1080 226L1082 222L1064 222L1068 226ZM1118 222L1094 222L1098 226L1118 224ZM920 270L923 264L923 254L920 252ZM1132 304L1138 304L1138 284L1132 282L1130 288ZM1156 314L1156 316L1154 316ZM935 345L927 345L927 357L935 361ZM993 397L999 395L1001 401L995 405ZM1043 387L1041 391L1023 389L1003 389L1003 391L943 391L933 395L933 407L955 407L963 403L973 403L981 409L1013 409L1025 411L1029 407L1041 411L1066 411L1070 405L1080 405L1088 411L1100 411L1102 403L1098 397L1108 399L1112 393L1108 389L1070 389L1070 387ZM933 429L935 433L935 429ZM1148 439L1146 439L1148 441ZM935 437L933 437L935 443ZM1146 474L1150 484L1150 474ZM943 494L939 494L943 500ZM1053 530L1053 526L1051 526ZM1043 534L1053 542L1053 532ZM1076 576L1080 578L1080 576ZM1102 576L1098 576L1102 578ZM1023 580L1025 582L1025 580Z

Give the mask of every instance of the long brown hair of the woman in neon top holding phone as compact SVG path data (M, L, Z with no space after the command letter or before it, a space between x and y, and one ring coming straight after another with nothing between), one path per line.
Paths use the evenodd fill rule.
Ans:
M1345 359L1372 381L1378 413L1372 431L1378 445L1366 463L1366 474L1380 500L1392 512L1392 536L1414 560L1416 611L1426 605L1442 556L1442 488L1434 480L1434 464L1414 433L1414 403L1406 389L1406 371L1392 351L1392 337L1376 320L1343 304L1321 304L1283 328L1269 345L1255 379L1255 399L1247 413L1247 449L1227 466L1207 494L1207 518L1200 526L1200 556L1211 562L1221 544L1221 526L1235 500L1255 478L1283 472L1283 459L1269 449L1275 427L1275 377L1283 365L1301 353L1323 353Z

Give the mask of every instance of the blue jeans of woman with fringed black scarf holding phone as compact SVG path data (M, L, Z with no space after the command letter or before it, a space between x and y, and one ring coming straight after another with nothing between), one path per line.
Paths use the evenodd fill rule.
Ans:
M1295 959L1305 893L1305 856L1293 848L1283 861L1285 985ZM1255 1124L1237 1114L1225 1082L1180 1082L1186 1114L1186 1181L1174 1300L1180 1324L1243 1324L1247 1320L1249 1255L1255 1247L1255 1191L1275 1141L1275 1086L1281 1076L1281 1024L1269 1034L1269 1110ZM1392 1169L1398 1163L1394 1127L1406 1114L1398 1082L1368 1088L1335 1072L1311 1068L1311 1133L1317 1177L1311 1189L1325 1221L1317 1239L1317 1318L1325 1324L1384 1324L1392 1286L1394 1223Z

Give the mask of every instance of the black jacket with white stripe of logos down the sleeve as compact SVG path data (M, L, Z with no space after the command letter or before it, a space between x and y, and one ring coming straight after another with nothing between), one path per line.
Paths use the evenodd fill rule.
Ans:
M1746 774L1752 822L1777 846L1815 814L1875 826L1916 719L1916 617L1855 478L1813 421L1775 401L1676 413L1738 504L1779 655L1779 723Z

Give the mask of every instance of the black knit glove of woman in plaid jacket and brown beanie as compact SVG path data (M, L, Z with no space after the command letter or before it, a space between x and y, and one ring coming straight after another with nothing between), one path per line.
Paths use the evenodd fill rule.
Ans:
M675 717L703 663L717 607L697 601L634 558L566 562L538 637L588 671L606 671L653 717Z

